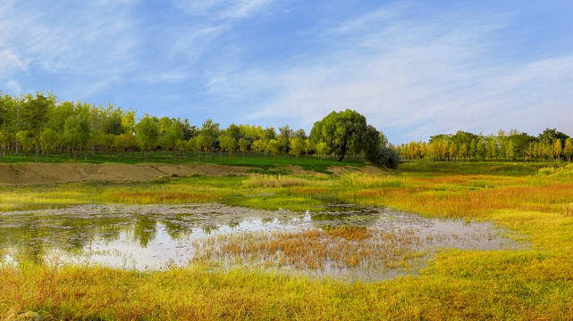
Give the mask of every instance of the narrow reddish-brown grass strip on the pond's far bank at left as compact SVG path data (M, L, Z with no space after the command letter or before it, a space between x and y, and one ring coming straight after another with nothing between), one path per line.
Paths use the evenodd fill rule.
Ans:
M105 193L106 202L121 202L127 204L155 203L186 203L186 202L215 202L221 200L216 193L190 192L114 192Z

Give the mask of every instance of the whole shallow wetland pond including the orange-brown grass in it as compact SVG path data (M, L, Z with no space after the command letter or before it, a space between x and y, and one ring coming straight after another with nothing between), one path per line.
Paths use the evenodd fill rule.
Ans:
M489 222L337 205L319 212L220 203L80 205L0 213L0 260L160 269L207 262L376 281L416 274L435 251L517 250Z

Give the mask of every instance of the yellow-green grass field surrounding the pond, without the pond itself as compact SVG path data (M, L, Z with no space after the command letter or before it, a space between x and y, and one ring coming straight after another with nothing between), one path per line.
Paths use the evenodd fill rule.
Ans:
M573 318L573 167L547 167L411 162L378 176L173 177L1 187L0 210L214 201L270 210L320 210L333 203L392 207L427 217L490 220L507 226L512 237L528 246L519 251L444 250L419 276L375 283L251 268L223 271L200 262L145 272L28 262L0 268L0 316L568 320Z

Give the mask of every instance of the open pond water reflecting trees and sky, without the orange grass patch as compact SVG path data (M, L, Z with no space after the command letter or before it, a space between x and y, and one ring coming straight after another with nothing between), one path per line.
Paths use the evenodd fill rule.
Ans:
M413 240L412 244L407 244L406 250L426 253L444 247L477 250L518 247L503 237L506 231L495 229L489 223L467 224L459 220L421 218L403 212L356 206L338 206L310 214L287 210L252 210L218 203L146 206L109 204L82 205L60 210L4 212L0 218L0 259L4 261L45 261L57 257L115 268L161 268L166 264L185 265L190 260L203 257L237 264L240 263L237 258L230 260L224 255L206 254L208 251L220 251L218 246L223 241L229 248L237 244L243 244L240 246L246 248L253 242L272 243L274 237L278 237L277 233L291 240L292 237L299 237L297 235L316 235L313 230L323 231L322 236L316 237L331 237L336 235L333 230L340 226L358 227L352 235L362 229L368 235L375 235L360 241L364 246L352 245L357 242L352 239L354 236L343 240L351 246L346 243L337 245L346 249L344 251L355 249L351 251L357 253L365 253L366 246L370 249L386 246L384 244L387 240L383 238L388 238L388 235L409 235L408 238L402 238ZM284 233L290 235L285 236ZM309 246L309 243L317 240L316 244L319 245L313 246L324 243L324 247L332 248L334 243L341 240L334 236L324 240L316 237L299 246ZM392 237L388 240L392 241ZM408 251L404 253L410 255ZM369 255L375 260L379 254L382 255L375 252ZM264 264L259 265L269 266L273 260L277 259L267 256L261 260ZM316 269L323 271L323 274L327 270L326 275L330 276L340 276L351 270L350 265L341 267L336 262L324 261L321 264ZM364 259L360 264L365 264ZM329 270L329 265L336 268ZM379 264L374 262L372 265ZM369 275L371 271L355 268L353 273L360 278ZM396 275L393 270L384 273L384 276Z

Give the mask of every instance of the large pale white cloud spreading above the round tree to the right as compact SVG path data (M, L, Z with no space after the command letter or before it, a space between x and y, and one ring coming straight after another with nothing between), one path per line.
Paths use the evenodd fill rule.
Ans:
M314 59L316 52L282 70L256 68L214 85L221 85L219 95L270 96L249 113L251 120L310 128L328 112L350 108L399 141L515 124L533 132L559 125L573 133L573 55L503 60L496 55L497 37L510 23L503 15L446 12L412 19L402 8L380 10L319 35L334 45Z

